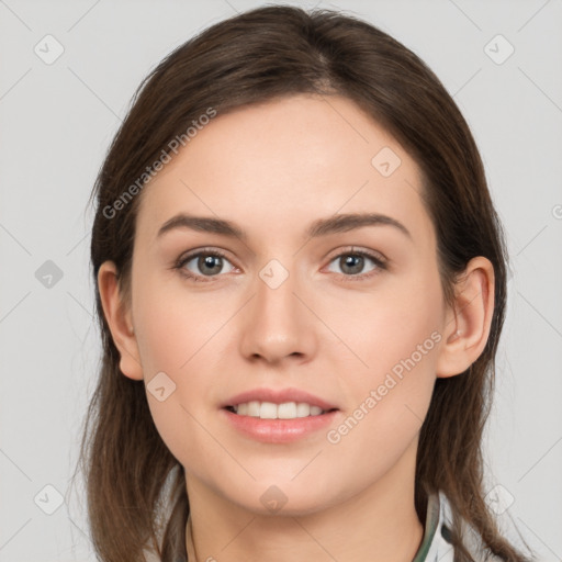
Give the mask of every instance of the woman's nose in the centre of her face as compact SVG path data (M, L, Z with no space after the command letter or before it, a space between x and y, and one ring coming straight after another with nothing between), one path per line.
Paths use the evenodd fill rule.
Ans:
M308 292L290 272L280 284L280 279L274 279L279 271L272 278L262 273L256 279L254 299L243 312L240 352L252 361L262 359L268 363L290 357L301 362L311 360L318 345L318 321L304 304Z

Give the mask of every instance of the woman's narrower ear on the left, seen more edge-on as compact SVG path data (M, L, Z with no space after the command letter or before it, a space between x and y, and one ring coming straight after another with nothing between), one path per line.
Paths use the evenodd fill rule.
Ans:
M110 327L113 342L121 355L121 372L130 379L140 381L143 380L143 369L133 329L132 314L127 303L122 301L117 270L112 261L105 261L101 265L98 272L98 288L103 314Z

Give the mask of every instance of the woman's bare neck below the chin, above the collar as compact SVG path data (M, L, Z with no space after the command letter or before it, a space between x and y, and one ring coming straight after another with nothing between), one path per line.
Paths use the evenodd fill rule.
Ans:
M415 448L409 457L398 461L402 469L415 467ZM188 477L189 560L412 562L424 528L414 506L413 473L405 481L404 470L396 469L345 502L299 516L257 514Z

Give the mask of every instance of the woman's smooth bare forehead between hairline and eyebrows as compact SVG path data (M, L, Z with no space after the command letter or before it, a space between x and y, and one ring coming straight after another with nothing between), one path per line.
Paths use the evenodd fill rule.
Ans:
M138 223L155 236L189 212L286 235L316 217L378 212L419 236L430 227L420 190L413 158L353 102L300 94L213 117L147 184Z

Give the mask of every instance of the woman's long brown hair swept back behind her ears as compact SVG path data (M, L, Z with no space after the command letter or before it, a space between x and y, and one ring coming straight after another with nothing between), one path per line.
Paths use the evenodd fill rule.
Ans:
M502 537L484 501L481 441L504 322L507 255L472 134L439 79L404 45L340 12L281 5L222 21L168 55L139 86L92 191L91 263L103 356L80 467L94 548L104 562L137 562L150 549L165 562L186 560L183 468L156 430L144 382L120 371L97 285L100 266L111 260L122 294L130 297L138 178L171 155L170 142L186 138L193 120L210 108L221 115L295 93L347 97L416 160L449 304L457 276L471 258L484 256L494 266L486 347L462 375L438 379L435 385L420 430L415 505L424 521L428 494L441 490L448 496L456 561L471 560L462 543L462 519L501 560L527 560Z

